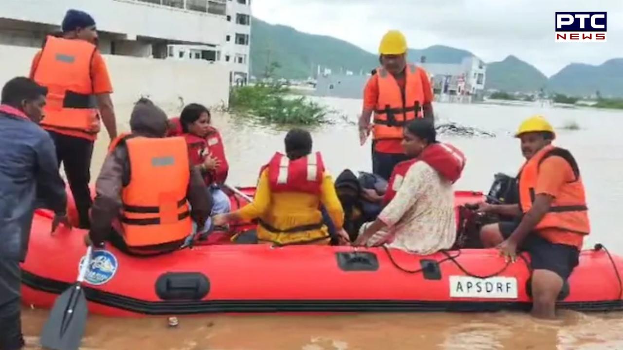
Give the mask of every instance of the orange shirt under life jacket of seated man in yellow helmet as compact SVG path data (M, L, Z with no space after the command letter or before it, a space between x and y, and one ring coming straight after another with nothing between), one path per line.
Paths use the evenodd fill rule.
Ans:
M539 174L536 179L535 194L549 194L556 198L560 193L561 187L566 182L576 179L573 169L569 163L559 156L551 156L546 158L539 168ZM578 249L582 248L584 235L576 234L561 229L543 229L539 235L552 243L574 245Z

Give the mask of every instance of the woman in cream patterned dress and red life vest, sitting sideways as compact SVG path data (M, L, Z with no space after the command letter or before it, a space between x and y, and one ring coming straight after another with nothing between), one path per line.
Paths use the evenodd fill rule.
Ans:
M354 245L381 245L431 254L454 245L454 190L465 166L459 149L437 141L430 120L407 123L402 146L409 158L390 177L385 207L361 227Z

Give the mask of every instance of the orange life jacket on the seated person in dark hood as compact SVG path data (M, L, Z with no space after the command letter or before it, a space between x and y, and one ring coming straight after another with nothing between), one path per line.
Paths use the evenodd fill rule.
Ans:
M186 141L136 136L125 142L131 174L121 192L125 243L142 247L183 240L192 230Z

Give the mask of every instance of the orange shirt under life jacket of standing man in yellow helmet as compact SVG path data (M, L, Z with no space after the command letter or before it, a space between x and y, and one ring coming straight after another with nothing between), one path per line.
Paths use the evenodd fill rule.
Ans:
M423 69L418 69L419 75L422 79L422 90L424 90L424 103L431 103L433 100L432 88L430 87L430 80L426 72ZM401 90L404 90L407 79L406 75L396 78L396 82ZM374 110L376 102L379 99L379 77L378 74L374 74L369 78L366 87L363 92L363 108L364 110ZM401 140L378 140L374 143L374 149L380 153L404 153L404 149L401 145Z

